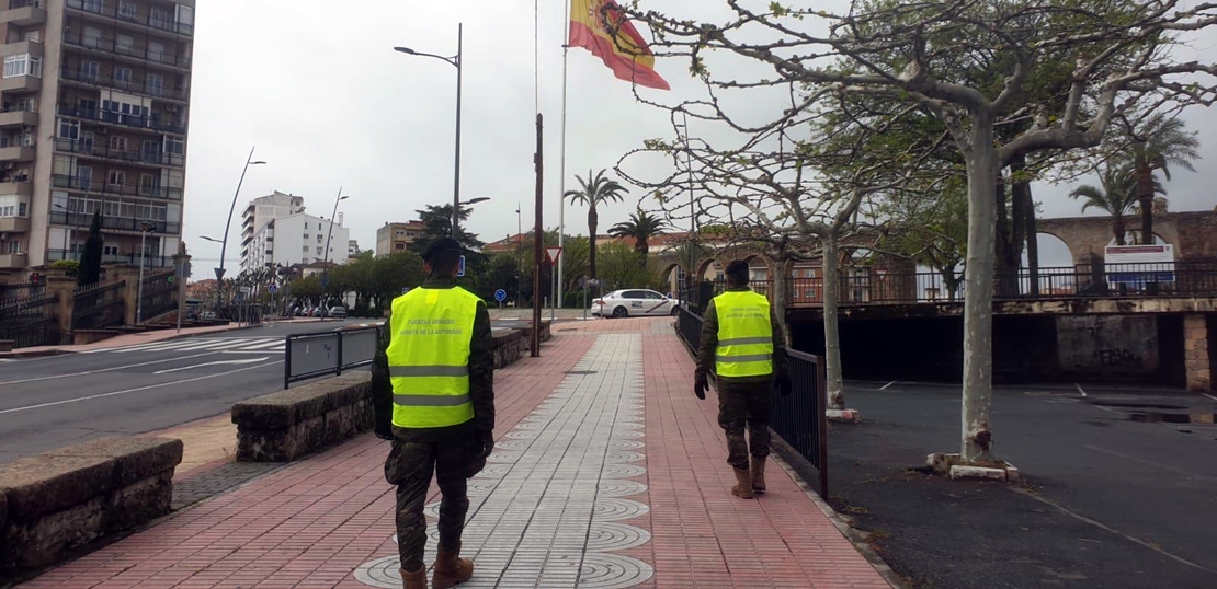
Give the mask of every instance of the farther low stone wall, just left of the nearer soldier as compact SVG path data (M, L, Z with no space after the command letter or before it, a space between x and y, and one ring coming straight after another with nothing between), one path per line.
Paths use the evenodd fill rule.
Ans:
M371 373L357 372L232 406L236 459L288 463L372 429Z

